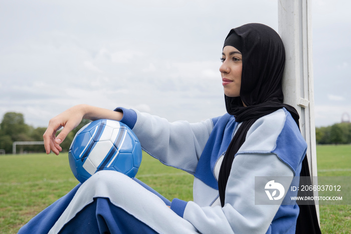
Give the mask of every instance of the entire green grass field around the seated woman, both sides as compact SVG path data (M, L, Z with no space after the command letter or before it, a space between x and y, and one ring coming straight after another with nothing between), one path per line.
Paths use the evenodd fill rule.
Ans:
M318 176L351 176L351 145L317 146L317 164ZM137 177L170 200L193 199L191 175L147 155ZM0 233L16 233L77 183L67 154L0 156ZM349 233L351 205L320 205L319 210L322 233Z

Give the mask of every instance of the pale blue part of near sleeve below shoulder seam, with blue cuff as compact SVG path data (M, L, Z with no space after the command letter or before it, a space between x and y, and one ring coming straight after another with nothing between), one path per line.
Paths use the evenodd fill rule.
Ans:
M292 170L276 155L237 155L224 207L200 207L193 201L173 199L171 209L201 233L265 233L280 204L255 205L255 176L276 175L290 176L291 180L293 176Z

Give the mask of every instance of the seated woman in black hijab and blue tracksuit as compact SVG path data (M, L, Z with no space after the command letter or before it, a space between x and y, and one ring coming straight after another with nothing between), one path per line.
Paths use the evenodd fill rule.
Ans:
M169 202L136 179L100 171L20 232L295 233L296 203L255 204L255 176L286 176L287 186L297 185L307 147L296 110L282 103L283 43L265 25L243 25L230 31L221 60L223 116L170 124L137 110L78 105L53 118L44 134L46 152L59 154L82 118L121 121L151 156L194 175L194 202Z

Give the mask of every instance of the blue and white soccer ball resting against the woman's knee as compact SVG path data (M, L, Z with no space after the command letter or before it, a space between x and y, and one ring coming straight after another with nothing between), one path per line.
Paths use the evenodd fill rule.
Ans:
M128 126L97 120L77 132L68 158L74 176L83 183L100 170L114 170L133 178L142 153L139 140Z

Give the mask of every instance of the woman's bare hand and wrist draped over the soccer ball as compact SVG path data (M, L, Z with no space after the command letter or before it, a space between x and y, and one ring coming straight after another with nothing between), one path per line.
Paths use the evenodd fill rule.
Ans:
M80 124L82 119L92 121L99 119L120 121L122 117L122 112L86 104L75 105L49 121L49 126L43 135L45 151L47 154L53 151L58 155L62 151L60 144L65 140L67 135ZM56 132L62 127L63 130L56 137Z

